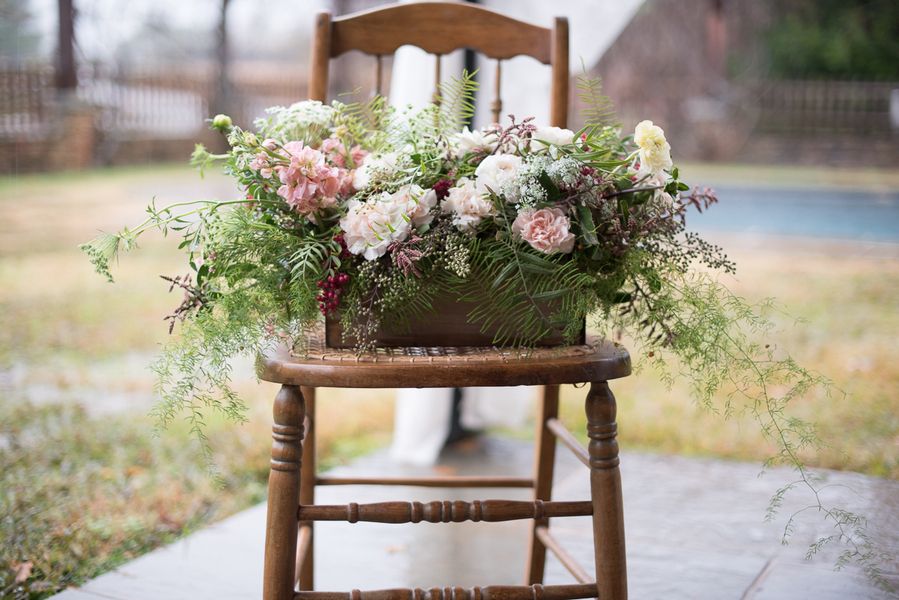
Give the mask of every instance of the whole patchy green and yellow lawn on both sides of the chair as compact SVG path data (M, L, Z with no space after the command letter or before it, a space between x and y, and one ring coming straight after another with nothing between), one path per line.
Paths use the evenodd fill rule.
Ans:
M752 175L746 167L683 171ZM769 175L786 178L778 169ZM813 172L800 179L822 182ZM897 183L894 174L863 179ZM147 237L115 271L116 285L94 275L76 248L96 229L139 221L153 196L164 204L230 194L224 178L200 180L184 166L0 179L0 597L43 597L264 497L275 389L258 384L249 364L236 375L250 422L209 424L223 489L180 424L154 436L145 416L153 402L146 365L168 337L162 316L179 302L158 275L184 271L177 243ZM828 443L809 461L899 478L899 251L723 243L739 265L735 291L777 297L790 315L777 317L777 343L846 392L796 403ZM625 449L755 461L771 450L751 419L708 414L648 370L614 389ZM563 417L576 429L582 398L583 390L563 391ZM389 440L389 392L327 390L319 407L326 464Z

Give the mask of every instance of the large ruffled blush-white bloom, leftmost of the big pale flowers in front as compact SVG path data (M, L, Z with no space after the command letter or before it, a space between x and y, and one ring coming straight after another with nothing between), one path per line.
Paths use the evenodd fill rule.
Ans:
M409 237L411 225L405 206L383 194L368 202L350 200L340 228L347 250L375 260L384 256L390 244Z

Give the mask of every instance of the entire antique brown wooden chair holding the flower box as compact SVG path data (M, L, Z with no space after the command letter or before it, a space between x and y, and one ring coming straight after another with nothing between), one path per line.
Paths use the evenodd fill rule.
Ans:
M472 48L496 59L492 103L499 120L502 60L527 55L551 65L551 123L564 127L568 113L568 24L537 27L470 4L419 2L390 5L332 19L318 15L312 46L310 97L326 100L331 58L350 50L375 56L376 88L381 91L381 57L411 44L440 57ZM616 344L587 340L579 346L538 349L526 357L496 348L380 348L356 356L335 350L313 336L308 351L282 350L266 357L261 377L282 385L275 398L265 549L265 600L568 600L627 596L621 478L618 470L615 398L607 381L630 374L630 358ZM558 420L559 385L589 383L586 399L588 448ZM541 385L537 411L536 460L532 478L430 477L337 478L318 475L315 461L315 389L318 387L399 388ZM551 500L556 438L590 470L591 499ZM387 502L322 506L314 504L316 485L371 484L428 487L527 487L533 501ZM299 506L297 506L299 498ZM549 532L551 517L592 515L596 577L590 577ZM526 583L472 589L432 588L379 591L313 590L313 523L321 520L386 523L505 521L532 519ZM578 581L543 586L549 549ZM297 591L299 590L299 591Z

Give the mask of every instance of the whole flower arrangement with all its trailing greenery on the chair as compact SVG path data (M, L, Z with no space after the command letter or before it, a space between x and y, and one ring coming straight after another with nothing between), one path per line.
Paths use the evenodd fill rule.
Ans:
M339 319L359 352L385 325L448 296L474 303L469 319L497 344L526 348L551 332L574 340L591 317L600 332L628 332L638 359L664 377L687 378L700 403L723 398L717 409L729 414L740 402L777 446L773 462L798 471L772 510L806 487L836 528L829 541L876 563L863 519L821 503L800 458L813 426L786 410L827 380L767 341L767 304L719 283L715 273L733 263L686 228L713 192L680 180L659 126L623 135L598 82L579 88L577 132L512 116L469 129L468 75L418 112L375 98L272 108L255 131L213 119L230 150L198 146L193 162L224 163L238 198L151 204L139 226L83 246L111 279L110 262L147 229L182 237L190 274L166 277L184 292L167 317L170 329L182 322L180 336L153 366L160 421L186 410L202 438L208 409L243 419L229 360L300 344L322 315Z

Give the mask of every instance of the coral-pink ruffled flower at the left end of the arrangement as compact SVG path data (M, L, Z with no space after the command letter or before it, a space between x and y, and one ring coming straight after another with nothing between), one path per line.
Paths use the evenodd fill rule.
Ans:
M311 215L317 210L334 206L335 196L345 181L345 169L325 162L325 155L303 142L288 142L284 150L290 156L287 166L277 167L283 184L278 195L297 212Z

